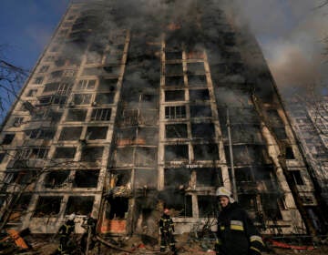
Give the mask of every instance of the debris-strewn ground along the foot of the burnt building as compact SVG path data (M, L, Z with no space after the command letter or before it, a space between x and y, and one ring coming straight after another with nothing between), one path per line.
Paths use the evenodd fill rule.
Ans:
M74 237L73 243L79 243L79 236ZM18 250L15 245L8 244L6 247L1 247L0 254L54 254L58 247L58 240L54 237L26 237L26 242L31 246L29 250ZM142 237L132 238L108 238L99 237L95 240L95 246L88 252L88 255L106 255L106 254L172 254L169 250L167 252L159 252L159 243L149 242L145 243L142 241ZM176 247L178 254L215 254L213 250L214 241L210 239L196 240L191 238L189 234L184 234L176 237ZM283 242L282 242L283 243ZM268 243L269 244L269 243ZM76 245L75 248L67 254L85 254L81 248ZM277 248L268 245L268 248L263 255L268 254L302 254L302 255L323 255L328 254L328 245L324 241L320 244L313 246L313 244L302 244L299 241L297 246L292 248ZM307 248L309 250L299 250L300 248Z

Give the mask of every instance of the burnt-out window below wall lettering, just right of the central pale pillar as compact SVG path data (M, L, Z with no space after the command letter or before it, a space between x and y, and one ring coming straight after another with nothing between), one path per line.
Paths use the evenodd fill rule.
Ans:
M170 189L190 187L191 170L189 168L165 168L164 186Z

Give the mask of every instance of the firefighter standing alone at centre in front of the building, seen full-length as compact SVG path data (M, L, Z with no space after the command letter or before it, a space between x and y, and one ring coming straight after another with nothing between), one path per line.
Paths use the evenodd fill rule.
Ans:
M169 216L169 209L164 209L163 215L159 219L159 230L161 233L160 238L160 252L164 252L169 245L169 249L173 254L177 254L175 248L175 240L173 237L174 224L173 220Z

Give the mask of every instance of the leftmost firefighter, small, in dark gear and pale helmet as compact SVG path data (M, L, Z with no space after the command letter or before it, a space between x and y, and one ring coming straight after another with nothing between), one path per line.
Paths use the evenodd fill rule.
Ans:
M58 234L60 235L59 246L56 250L56 254L69 254L69 239L70 235L75 231L75 213L68 216L67 221L59 228ZM68 253L67 253L68 252Z

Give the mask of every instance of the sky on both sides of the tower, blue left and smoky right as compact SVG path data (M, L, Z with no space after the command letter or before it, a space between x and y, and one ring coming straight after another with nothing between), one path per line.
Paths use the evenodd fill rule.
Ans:
M239 6L239 22L250 25L278 87L292 92L295 87L325 84L328 72L323 38L328 36L328 8L316 8L323 0L234 2ZM0 57L15 66L33 69L68 3L0 0Z

